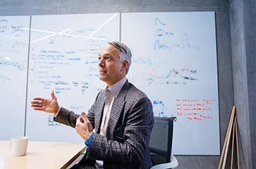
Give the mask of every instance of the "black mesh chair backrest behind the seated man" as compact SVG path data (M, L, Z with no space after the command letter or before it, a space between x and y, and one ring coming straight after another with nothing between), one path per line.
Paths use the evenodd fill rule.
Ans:
M176 121L176 117L154 117L150 137L150 155L154 165L171 162L173 121Z

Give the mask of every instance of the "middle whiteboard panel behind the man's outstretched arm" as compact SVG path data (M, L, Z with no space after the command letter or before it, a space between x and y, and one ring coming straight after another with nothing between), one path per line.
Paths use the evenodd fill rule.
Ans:
M98 54L119 40L120 14L32 16L26 135L34 141L82 142L74 128L53 121L53 114L30 107L34 97L51 98L80 114L87 112L105 83L99 80ZM88 38L90 37L90 38Z

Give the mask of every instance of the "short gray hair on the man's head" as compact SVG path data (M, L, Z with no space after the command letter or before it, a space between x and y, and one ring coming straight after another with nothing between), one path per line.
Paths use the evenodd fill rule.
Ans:
M130 65L132 63L132 53L130 51L130 48L128 48L128 46L126 46L126 44L122 43L121 41L109 41L108 44L111 44L114 47L118 48L118 50L120 50L120 53L119 53L120 62L123 62L123 60L128 61L129 65L126 68L126 74L128 74Z

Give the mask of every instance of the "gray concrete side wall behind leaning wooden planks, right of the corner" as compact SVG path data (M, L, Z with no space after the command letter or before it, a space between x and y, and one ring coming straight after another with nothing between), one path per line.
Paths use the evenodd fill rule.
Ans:
M256 168L256 1L231 0L234 103L241 168Z

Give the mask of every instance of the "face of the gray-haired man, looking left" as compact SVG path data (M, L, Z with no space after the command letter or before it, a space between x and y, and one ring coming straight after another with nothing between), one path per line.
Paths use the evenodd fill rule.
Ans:
M99 52L99 79L109 87L126 76L128 62L126 60L120 62L119 52L111 44L104 46Z

